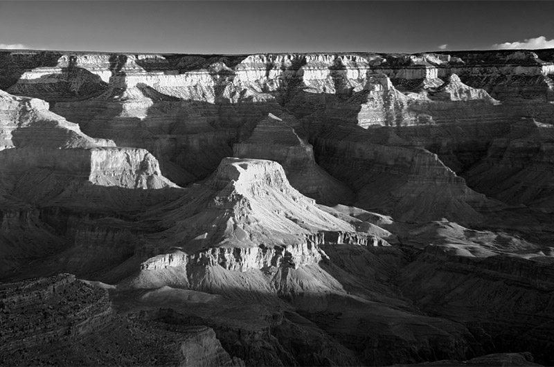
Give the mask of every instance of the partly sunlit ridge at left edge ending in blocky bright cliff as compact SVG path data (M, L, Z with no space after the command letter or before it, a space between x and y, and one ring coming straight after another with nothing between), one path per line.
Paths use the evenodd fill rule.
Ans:
M175 186L161 176L157 159L147 151L90 138L77 124L49 111L48 103L42 100L0 93L3 174L15 177L42 169L83 177L102 186Z

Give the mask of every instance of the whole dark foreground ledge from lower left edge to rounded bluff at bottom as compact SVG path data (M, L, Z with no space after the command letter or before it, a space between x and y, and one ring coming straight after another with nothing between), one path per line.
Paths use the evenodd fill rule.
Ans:
M102 285L69 274L2 284L0 294L2 364L244 366L211 328L124 319Z

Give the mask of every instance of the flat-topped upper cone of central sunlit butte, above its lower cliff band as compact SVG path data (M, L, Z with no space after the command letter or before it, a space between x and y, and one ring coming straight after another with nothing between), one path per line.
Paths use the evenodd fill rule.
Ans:
M193 197L197 199L191 200ZM265 251L265 247L308 244L303 251L315 251L319 259L312 245L323 243L324 233L356 237L351 224L321 211L314 199L292 188L283 168L274 161L223 159L206 183L190 188L179 202L179 206L171 205L175 209L161 222L168 227L163 246L182 247L187 252L187 248L213 246ZM359 241L366 244L364 234L359 234ZM256 258L256 253L253 256Z

